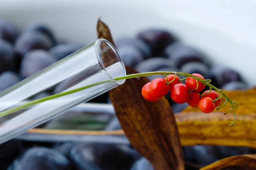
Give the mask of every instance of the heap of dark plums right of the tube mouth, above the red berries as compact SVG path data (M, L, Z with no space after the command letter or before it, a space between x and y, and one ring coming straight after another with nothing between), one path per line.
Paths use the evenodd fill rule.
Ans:
M116 46L124 63L139 72L198 73L205 79L211 79L212 85L223 90L233 91L248 88L247 83L236 70L223 65L214 65L202 51L180 42L174 34L167 30L146 29L139 32L136 37L119 38L116 40ZM148 79L152 81L157 77L159 75L148 76ZM209 87L204 89L204 91L206 90L209 90ZM173 102L170 94L167 94L166 98L175 113L188 106L186 103Z

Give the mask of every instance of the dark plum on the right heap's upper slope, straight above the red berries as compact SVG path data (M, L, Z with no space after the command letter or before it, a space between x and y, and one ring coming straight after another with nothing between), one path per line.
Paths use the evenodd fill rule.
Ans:
M181 68L188 62L202 62L210 66L210 62L203 54L191 46L175 43L166 47L165 53L177 68Z

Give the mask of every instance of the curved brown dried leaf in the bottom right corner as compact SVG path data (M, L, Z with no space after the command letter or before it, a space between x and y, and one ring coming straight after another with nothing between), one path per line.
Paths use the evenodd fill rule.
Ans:
M232 170L256 170L256 155L238 155L221 159L200 170L221 170L231 168Z

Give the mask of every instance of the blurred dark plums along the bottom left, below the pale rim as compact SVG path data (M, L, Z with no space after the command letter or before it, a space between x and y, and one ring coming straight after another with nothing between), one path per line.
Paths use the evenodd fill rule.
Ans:
M1 170L130 170L140 158L128 144L108 142L10 140L0 145Z

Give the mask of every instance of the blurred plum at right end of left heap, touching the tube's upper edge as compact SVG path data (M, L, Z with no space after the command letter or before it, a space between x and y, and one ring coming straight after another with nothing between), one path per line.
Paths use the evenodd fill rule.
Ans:
M52 54L52 56L57 59L63 59L67 57L68 55L80 50L83 48L84 45L80 43L67 43L67 44L61 44L61 45L56 45L52 47L49 50L49 53Z

